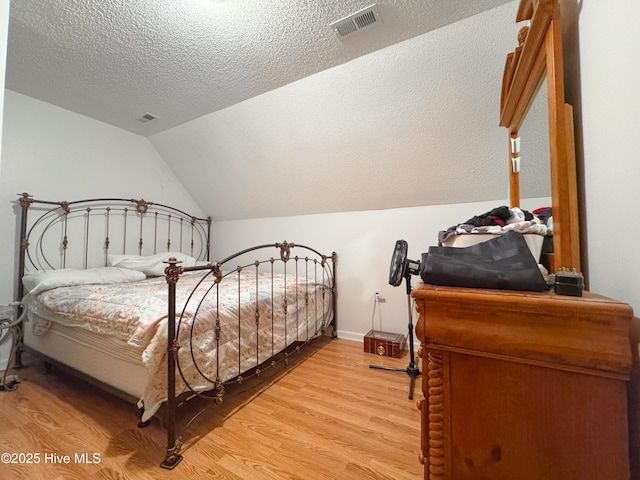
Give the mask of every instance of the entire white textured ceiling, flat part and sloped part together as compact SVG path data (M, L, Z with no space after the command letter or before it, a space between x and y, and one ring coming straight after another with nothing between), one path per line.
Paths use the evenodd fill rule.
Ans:
M504 202L517 3L381 1L339 39L369 1L12 0L7 88L148 137L215 220Z

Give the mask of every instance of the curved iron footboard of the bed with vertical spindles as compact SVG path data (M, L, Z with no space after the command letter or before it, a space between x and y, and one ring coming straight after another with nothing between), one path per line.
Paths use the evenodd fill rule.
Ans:
M275 249L277 256L246 260L251 258L250 255L259 256L269 249ZM293 252L300 255L294 255ZM182 439L176 432L176 410L179 397L185 389L193 396L220 403L226 385L240 384L249 377L260 376L264 369L273 368L278 363L286 367L290 355L326 333L336 338L336 261L335 252L323 255L305 245L285 241L251 247L204 267L181 267L175 258L167 262L167 451L161 464L163 468L172 469L182 460ZM197 307L195 313L188 314L186 304L182 307L177 304L176 286L185 273L198 271L202 272L202 277L186 302ZM255 283L243 285L245 274L250 282ZM259 281L262 277L266 279L266 287L262 280ZM250 297L247 308L253 310L251 320L241 319L240 314L237 323L223 319L222 310L229 303L228 298L221 298L221 286L226 282L230 282L234 288L237 285L239 303L241 296ZM280 298L275 291L280 288L284 289L284 295L275 300ZM203 314L211 317L212 312L204 307L210 297L215 297L215 302L212 302L215 305L215 320L203 327L204 322L201 323L198 316ZM230 326L230 323L233 325ZM234 345L234 348L237 346L237 352L230 348L225 355L224 337L228 328L238 331L237 345ZM331 331L327 332L330 328ZM202 345L203 329L206 330L206 342L215 349L215 362L209 362L206 366L201 365L200 359L194 354ZM199 337L198 344L194 344L196 335ZM229 363L227 356L232 350L236 358L231 376L229 369L222 368L221 363ZM193 375L189 378L185 375L184 362L195 365L198 372L195 379ZM203 389L203 384L208 388Z

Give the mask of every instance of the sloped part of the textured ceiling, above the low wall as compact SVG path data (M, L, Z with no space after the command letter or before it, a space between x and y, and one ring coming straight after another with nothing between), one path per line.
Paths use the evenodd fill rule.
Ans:
M149 141L215 220L501 205L509 156L500 89L516 7L415 36ZM530 132L522 139L527 171L543 133Z

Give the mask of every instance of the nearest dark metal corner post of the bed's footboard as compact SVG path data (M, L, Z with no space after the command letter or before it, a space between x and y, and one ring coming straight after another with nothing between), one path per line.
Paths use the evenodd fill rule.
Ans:
M167 285L169 289L169 311L167 317L167 452L162 468L172 470L182 460L180 447L182 440L176 438L176 354L178 351L178 339L176 338L176 283L183 273L183 268L178 266L175 257L171 257L169 266L165 269Z

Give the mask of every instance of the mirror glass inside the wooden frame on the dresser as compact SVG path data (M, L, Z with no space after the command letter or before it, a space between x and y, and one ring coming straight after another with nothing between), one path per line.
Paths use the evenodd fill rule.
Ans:
M549 112L547 81L543 79L536 92L520 131L520 199L524 208L551 205L551 169L549 153ZM531 205L527 199L545 205ZM534 203L536 203L534 201Z

